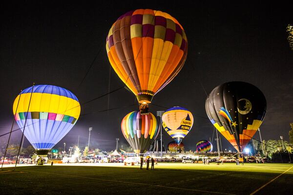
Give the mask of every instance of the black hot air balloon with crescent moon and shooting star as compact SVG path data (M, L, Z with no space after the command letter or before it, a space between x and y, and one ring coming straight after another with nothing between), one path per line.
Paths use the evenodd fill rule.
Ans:
M242 152L261 125L266 108L263 93L247 82L219 85L206 99L211 123L238 152Z

